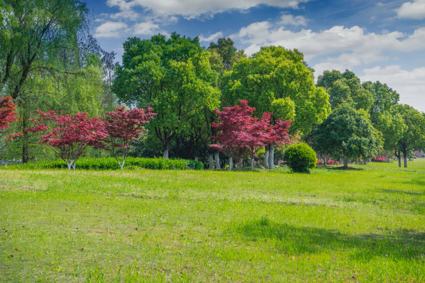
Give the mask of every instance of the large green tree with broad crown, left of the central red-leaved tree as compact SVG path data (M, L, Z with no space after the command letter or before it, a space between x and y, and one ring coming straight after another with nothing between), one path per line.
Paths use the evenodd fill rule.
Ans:
M116 69L113 91L126 105L151 104L156 117L149 123L163 143L164 157L174 137L190 130L194 114L219 105L217 72L210 67L209 53L197 37L172 33L167 40L129 38L124 42L122 66Z

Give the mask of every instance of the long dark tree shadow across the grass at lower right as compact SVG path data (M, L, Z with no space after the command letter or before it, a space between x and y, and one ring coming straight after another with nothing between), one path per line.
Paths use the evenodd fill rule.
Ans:
M349 235L323 228L295 227L268 218L249 221L236 228L249 241L274 241L278 252L310 255L329 250L342 251L354 259L374 257L424 259L425 233L399 230L392 234Z

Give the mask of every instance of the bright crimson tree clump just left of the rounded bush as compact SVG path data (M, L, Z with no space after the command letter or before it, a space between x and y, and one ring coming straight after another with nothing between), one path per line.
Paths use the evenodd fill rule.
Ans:
M233 157L249 154L251 157L251 170L258 150L270 143L289 143L291 141L288 130L291 121L277 120L273 126L270 121L272 113L265 112L260 120L252 117L255 108L251 108L247 101L240 101L240 105L215 110L219 123L213 123L213 128L221 130L212 137L219 141L211 144L212 148L224 151L230 156L229 170L233 166Z

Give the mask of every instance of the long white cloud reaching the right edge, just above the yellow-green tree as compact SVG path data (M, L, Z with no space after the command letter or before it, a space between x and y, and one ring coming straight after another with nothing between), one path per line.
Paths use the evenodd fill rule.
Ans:
M271 22L256 22L240 28L240 31L231 37L249 44L245 49L248 54L258 51L260 46L281 45L289 49L299 49L306 58L334 52L379 53L384 50L413 51L425 48L425 28L418 28L406 37L398 31L365 33L359 26L333 26L318 33L310 29L293 32Z

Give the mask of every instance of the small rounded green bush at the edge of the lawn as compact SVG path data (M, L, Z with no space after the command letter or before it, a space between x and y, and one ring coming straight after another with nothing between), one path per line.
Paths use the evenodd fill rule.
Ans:
M286 148L283 160L292 172L310 173L310 169L315 168L317 157L313 148L308 144L293 144Z

